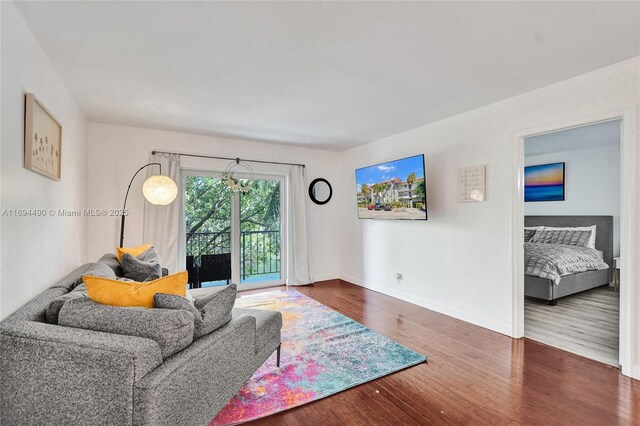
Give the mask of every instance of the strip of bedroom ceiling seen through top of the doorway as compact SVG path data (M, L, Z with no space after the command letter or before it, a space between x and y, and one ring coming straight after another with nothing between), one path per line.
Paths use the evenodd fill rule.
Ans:
M620 124L620 120L612 120L533 136L525 139L524 152L529 156L620 145Z

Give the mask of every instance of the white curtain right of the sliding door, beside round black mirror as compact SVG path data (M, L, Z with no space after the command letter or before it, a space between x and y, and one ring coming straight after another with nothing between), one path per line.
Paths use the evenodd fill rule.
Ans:
M311 283L311 271L309 269L309 247L307 232L307 184L304 176L304 167L292 166L288 176L289 186L289 226L288 251L290 253L288 264L287 285L305 285Z

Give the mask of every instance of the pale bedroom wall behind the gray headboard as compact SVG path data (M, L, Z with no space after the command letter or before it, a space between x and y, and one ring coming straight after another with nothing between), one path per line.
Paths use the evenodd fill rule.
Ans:
M525 140L526 144L535 143ZM525 155L525 164L565 162L565 200L525 203L526 215L613 216L613 253L620 254L620 145Z

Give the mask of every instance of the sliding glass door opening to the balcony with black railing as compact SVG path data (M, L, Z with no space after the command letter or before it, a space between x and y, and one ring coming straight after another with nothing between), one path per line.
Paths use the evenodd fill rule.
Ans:
M237 283L257 288L284 283L283 179L236 174L248 190L227 179L184 172L187 270L192 288Z

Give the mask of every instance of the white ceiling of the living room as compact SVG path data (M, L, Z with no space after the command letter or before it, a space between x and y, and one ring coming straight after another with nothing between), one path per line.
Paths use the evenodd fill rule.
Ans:
M20 2L91 121L341 150L640 54L638 2Z

